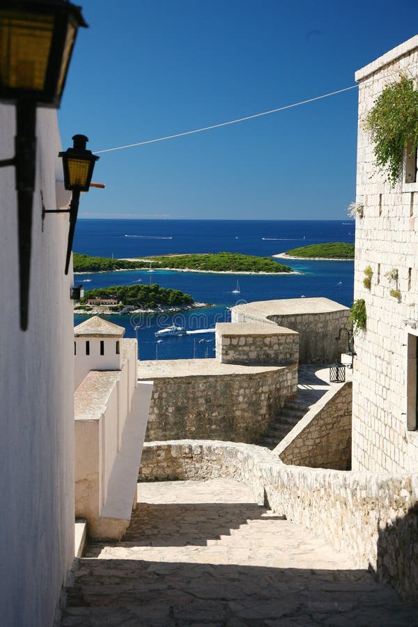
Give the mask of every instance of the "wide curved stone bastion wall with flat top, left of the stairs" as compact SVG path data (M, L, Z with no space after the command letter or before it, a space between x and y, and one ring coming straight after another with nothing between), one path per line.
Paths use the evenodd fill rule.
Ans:
M147 441L254 442L295 396L297 365L236 366L216 359L139 362L139 380L154 382Z

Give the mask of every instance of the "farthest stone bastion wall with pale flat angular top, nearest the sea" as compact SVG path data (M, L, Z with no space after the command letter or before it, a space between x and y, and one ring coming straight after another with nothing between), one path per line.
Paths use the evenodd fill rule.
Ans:
M291 298L237 305L231 311L231 320L246 324L249 333L260 323L297 332L299 361L304 364L333 362L347 352L344 330L349 313L348 307L327 298Z

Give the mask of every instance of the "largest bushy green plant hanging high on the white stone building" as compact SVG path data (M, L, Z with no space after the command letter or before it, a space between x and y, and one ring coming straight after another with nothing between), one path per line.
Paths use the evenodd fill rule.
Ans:
M403 155L412 155L418 146L418 90L414 81L401 75L385 87L366 117L371 130L376 164L386 169L387 180L396 185Z

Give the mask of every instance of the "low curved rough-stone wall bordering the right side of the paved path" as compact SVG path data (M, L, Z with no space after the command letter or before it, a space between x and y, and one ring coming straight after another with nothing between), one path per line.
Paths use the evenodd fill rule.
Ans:
M286 466L251 444L183 440L145 445L139 481L226 477L260 504L323 532L405 598L418 598L418 474L390 476ZM140 490L140 488L139 488Z

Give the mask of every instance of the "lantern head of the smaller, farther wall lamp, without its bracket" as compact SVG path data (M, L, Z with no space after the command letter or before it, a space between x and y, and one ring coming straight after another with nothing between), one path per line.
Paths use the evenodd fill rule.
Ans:
M100 157L93 155L91 150L86 150L86 135L74 135L72 141L72 148L67 148L65 153L58 155L63 158L64 186L72 192L88 192L94 164Z

